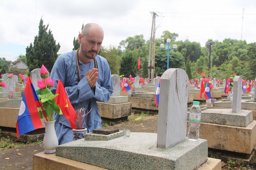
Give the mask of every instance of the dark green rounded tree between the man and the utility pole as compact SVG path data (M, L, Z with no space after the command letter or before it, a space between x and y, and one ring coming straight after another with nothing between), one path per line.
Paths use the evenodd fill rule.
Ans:
M136 60L132 57L131 53L126 53L121 59L120 65L120 75L124 75L124 77L129 77L130 74L132 77L137 76L137 65Z

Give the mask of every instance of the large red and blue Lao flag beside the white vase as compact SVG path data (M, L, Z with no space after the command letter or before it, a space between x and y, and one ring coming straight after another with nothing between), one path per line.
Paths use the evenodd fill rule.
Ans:
M24 133L43 127L37 111L37 107L40 107L41 104L39 103L40 100L29 77L27 79L16 123L17 138Z

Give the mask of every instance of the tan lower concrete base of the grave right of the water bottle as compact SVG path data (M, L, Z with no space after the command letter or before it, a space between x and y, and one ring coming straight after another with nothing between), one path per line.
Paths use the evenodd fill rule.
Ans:
M256 145L256 121L246 127L201 122L199 138L206 139L209 148L251 154Z

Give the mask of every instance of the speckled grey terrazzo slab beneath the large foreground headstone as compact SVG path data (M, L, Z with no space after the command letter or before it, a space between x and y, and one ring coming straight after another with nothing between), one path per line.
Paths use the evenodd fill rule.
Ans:
M65 143L56 147L56 156L113 170L193 170L207 161L208 147L204 139L184 140L168 149L156 146L157 134L131 132L129 138L108 141L80 139Z

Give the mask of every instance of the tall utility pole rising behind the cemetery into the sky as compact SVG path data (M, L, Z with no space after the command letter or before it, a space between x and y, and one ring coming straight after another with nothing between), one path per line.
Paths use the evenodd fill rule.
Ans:
M150 12L152 14L152 26L151 26L151 35L150 35L150 45L149 45L149 55L148 55L148 76L151 81L154 78L154 58L155 58L155 18L158 16L155 12ZM150 74L151 71L151 74Z

